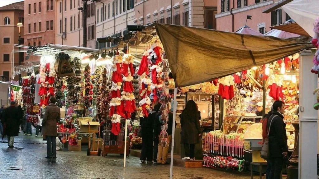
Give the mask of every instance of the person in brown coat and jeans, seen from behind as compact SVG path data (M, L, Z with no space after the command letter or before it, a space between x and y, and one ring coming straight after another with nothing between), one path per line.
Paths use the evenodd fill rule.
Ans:
M49 105L46 107L42 120L42 135L46 136L47 140L47 156L45 158L56 158L56 124L60 121L60 108L56 106L56 98L49 99Z

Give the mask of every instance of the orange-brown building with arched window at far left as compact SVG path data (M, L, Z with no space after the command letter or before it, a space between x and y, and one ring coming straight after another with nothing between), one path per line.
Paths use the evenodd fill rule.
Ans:
M20 20L24 21L24 2L18 2L0 7L0 81L11 81L13 44L18 44ZM20 27L20 36L24 37L24 28ZM14 65L19 65L19 54L14 55ZM17 79L15 79L17 80Z

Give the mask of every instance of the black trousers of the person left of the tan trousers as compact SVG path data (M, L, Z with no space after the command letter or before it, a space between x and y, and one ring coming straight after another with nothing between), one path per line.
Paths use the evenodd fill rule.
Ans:
M142 151L140 160L153 160L153 130L142 127Z

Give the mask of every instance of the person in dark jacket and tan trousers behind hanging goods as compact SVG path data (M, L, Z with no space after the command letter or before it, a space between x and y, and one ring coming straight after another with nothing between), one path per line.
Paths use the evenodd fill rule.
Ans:
M170 106L170 105L169 105ZM154 139L158 139L158 152L157 152L157 163L161 164L167 164L167 155L168 155L168 150L169 146L167 147L162 147L161 146L161 136L160 133L162 131L161 126L164 124L163 121L161 120L161 115L163 114L163 111L159 111L156 114L155 117L155 122L154 122ZM175 127L176 127L176 121L175 121ZM168 112L168 121L167 121L167 137L168 137L168 143L171 142L172 140L172 131L173 131L173 113L171 111ZM154 143L155 147L155 143Z

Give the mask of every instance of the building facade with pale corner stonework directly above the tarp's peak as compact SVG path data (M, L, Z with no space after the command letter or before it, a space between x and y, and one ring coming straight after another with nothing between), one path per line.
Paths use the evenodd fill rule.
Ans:
M136 0L134 22L148 25L156 21L216 29L215 14L217 0L173 0L173 3L171 0Z

